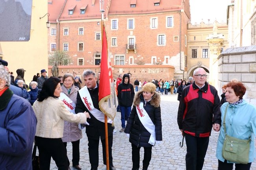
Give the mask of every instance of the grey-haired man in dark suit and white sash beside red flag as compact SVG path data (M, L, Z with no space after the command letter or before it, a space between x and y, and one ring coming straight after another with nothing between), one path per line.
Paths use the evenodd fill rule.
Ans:
M85 70L83 72L83 79L85 82L85 86L78 91L76 98L76 108L75 112L88 112L90 114L91 119L87 119L89 125L86 125L86 135L88 138L88 150L89 150L89 159L91 163L91 170L98 169L98 147L99 147L99 139L102 143L103 150L103 162L106 165L106 142L105 142L105 124L103 120L99 120L100 117L104 117L104 113L100 112L99 104L98 104L98 91L99 84L97 83L96 74L91 70ZM87 88L87 89L84 89ZM83 91L89 91L88 93L83 93ZM83 98L83 100L81 99ZM87 100L88 99L88 100ZM86 100L86 102L85 102ZM89 103L90 100L93 103ZM87 106L85 106L85 103ZM91 108L94 107L92 110ZM94 114L94 110L98 111L98 115ZM98 116L98 117L97 117ZM113 166L113 157L112 157L112 144L113 144L113 127L111 123L108 121L108 151L109 151L109 169L115 170Z

